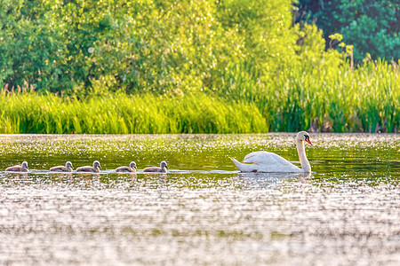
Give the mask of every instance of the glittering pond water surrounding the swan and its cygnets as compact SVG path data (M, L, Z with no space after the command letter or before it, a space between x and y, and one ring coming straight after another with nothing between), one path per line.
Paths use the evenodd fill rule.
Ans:
M296 163L294 137L0 135L0 264L399 265L400 135L311 134L311 176L228 158ZM102 169L47 171L67 160ZM170 170L113 171L132 160Z

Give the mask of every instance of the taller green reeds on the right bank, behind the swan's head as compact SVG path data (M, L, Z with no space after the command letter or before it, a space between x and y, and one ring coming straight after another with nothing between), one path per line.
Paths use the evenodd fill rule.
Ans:
M227 72L232 85L220 96L254 103L269 131L395 132L400 129L398 65L370 61L352 69L348 62L319 59L293 64L277 76L253 80L248 71Z

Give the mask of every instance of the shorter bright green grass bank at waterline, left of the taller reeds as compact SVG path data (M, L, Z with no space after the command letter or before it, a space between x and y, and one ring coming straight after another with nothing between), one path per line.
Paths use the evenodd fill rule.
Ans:
M78 100L36 92L0 96L0 133L246 133L268 130L251 104L204 94L115 94Z

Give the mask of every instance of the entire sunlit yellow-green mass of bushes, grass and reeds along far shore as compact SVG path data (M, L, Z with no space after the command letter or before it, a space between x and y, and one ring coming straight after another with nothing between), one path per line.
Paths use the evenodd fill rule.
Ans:
M0 133L398 132L396 51L355 61L340 34L325 50L293 8L7 0Z

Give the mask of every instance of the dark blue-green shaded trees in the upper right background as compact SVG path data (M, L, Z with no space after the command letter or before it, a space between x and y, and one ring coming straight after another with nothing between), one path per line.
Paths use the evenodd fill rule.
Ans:
M398 0L298 0L295 22L316 23L324 30L328 47L339 42L329 38L340 33L354 45L356 62L367 53L372 59L400 58L400 3Z

